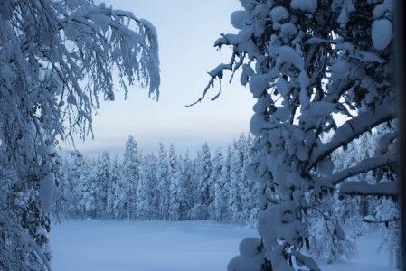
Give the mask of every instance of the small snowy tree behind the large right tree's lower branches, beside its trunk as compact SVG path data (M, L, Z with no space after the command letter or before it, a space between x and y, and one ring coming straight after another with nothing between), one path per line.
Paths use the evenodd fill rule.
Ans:
M346 147L345 155L344 150L333 153L331 159L335 164L334 173L356 164L360 151L358 142L354 142ZM354 259L357 255L355 240L360 237L364 228L360 199L341 199L337 191L330 191L320 201L317 209L309 210L308 228L312 256L326 259L329 263L339 259ZM335 224L326 218L340 224L345 230L343 238L334 234Z

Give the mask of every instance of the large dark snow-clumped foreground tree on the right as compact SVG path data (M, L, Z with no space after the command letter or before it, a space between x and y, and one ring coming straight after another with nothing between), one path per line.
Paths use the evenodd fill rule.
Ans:
M343 195L397 193L395 180L345 182L393 164L395 134L387 133L381 153L350 168L333 173L330 158L395 118L392 5L366 0L241 0L241 5L243 10L231 14L238 33L222 34L215 42L232 48L231 61L209 72L203 97L224 71L241 70L241 84L248 84L257 99L250 131L258 138L254 149L259 154L249 177L259 182L259 202L266 209L258 220L260 249L241 249L229 269L293 270L295 261L319 270L301 248L309 236L307 210L318 209L326 191L341 183ZM340 115L345 120L337 124ZM331 136L324 140L326 135ZM278 198L266 206L268 187ZM335 236L343 238L339 223L325 219Z

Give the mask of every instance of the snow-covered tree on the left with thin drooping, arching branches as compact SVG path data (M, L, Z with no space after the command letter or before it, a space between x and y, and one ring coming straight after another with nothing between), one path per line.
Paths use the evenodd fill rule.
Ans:
M157 97L156 33L146 20L89 0L5 0L0 36L1 155L16 192L37 194L24 207L10 201L1 209L1 243L14 238L20 252L0 247L0 267L49 270L47 223L22 219L29 212L49 220L59 176L56 139L89 134L99 98L114 100L113 70L126 96L127 86L141 80Z

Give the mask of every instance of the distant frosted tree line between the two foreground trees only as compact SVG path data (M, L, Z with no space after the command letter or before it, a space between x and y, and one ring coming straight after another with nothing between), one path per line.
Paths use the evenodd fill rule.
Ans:
M257 188L244 171L252 143L241 135L213 155L203 143L191 158L163 144L157 155L142 154L129 136L122 157L73 151L63 159L54 210L72 218L254 223Z

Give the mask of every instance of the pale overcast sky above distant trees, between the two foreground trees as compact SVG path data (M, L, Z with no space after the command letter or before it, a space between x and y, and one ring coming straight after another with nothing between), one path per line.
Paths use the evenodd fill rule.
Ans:
M101 150L120 152L128 135L134 135L145 152L155 152L159 142L173 143L181 151L194 152L203 141L212 148L229 145L241 132L248 132L253 98L239 85L239 77L222 80L209 98L194 107L184 107L202 94L212 70L228 61L231 51L213 48L220 33L234 32L230 14L240 9L238 0L108 0L106 5L129 10L156 26L161 61L159 101L149 99L146 89L133 88L124 100L104 102L94 117L94 140L77 148L88 154Z

